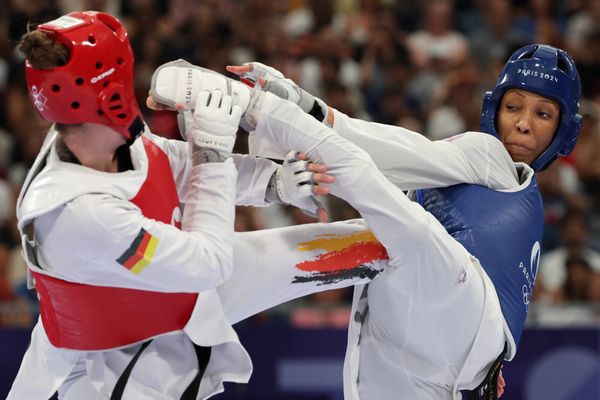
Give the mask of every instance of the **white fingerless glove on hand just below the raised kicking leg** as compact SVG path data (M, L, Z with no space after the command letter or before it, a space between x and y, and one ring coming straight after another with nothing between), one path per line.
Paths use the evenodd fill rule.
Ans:
M284 204L291 204L312 217L321 217L323 204L313 194L313 175L310 161L298 160L296 152L286 154L281 167L275 172L277 195Z

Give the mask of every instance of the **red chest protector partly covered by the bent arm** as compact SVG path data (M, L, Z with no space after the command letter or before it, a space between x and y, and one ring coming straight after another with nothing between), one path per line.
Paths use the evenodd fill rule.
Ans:
M148 155L148 175L130 201L147 218L173 222L180 228L177 217L181 214L173 214L180 203L169 160L150 139L142 140ZM93 286L33 275L50 343L73 350L107 350L179 331L189 320L198 296Z

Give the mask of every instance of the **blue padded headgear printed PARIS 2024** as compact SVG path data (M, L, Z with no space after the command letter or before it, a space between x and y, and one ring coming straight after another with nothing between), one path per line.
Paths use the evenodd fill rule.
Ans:
M548 97L560 106L560 123L548 148L531 164L534 171L548 167L558 156L566 156L575 147L581 128L579 94L581 84L573 59L563 50L533 44L520 48L500 72L496 86L483 99L481 130L499 138L496 114L504 93L523 89Z

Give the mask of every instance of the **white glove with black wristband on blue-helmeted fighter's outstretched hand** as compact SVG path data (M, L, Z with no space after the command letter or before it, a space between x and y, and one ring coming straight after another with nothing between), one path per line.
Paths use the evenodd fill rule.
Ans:
M244 65L252 66L252 70L240 75L242 82L251 87L260 84L262 90L299 105L304 112L312 115L319 122L325 123L330 128L333 126L333 111L323 100L308 93L273 67L259 62L244 63Z

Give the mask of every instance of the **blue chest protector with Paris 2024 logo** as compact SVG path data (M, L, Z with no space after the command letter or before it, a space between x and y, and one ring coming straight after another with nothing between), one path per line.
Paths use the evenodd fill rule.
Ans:
M477 257L494 283L516 350L537 275L544 226L535 177L517 192L460 184L418 190L416 200Z

